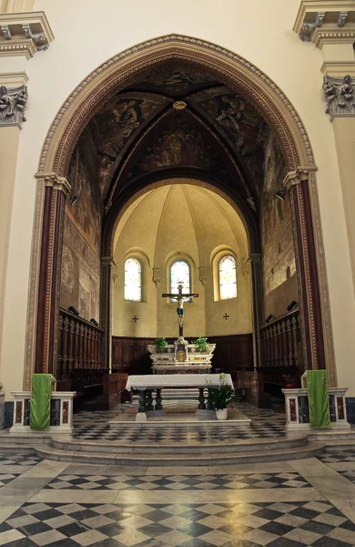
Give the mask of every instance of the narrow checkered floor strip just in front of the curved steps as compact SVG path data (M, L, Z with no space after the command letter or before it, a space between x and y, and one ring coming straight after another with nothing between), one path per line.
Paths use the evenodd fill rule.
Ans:
M299 473L251 473L248 475L111 476L62 474L46 489L62 490L239 490L303 488L309 482Z

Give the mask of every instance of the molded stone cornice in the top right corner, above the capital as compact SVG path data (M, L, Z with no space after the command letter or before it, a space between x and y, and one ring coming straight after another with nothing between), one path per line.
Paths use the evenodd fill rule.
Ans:
M326 42L353 42L353 0L302 0L293 30L301 40L322 47Z

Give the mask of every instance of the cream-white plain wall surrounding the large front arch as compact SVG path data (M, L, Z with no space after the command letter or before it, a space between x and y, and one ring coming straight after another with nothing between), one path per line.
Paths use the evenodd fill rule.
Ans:
M319 167L320 210L342 383L355 396L355 306L336 150L321 97L320 51L292 32L299 0L35 0L56 36L28 63L27 122L20 138L5 294L5 390L22 387L35 181L46 131L66 96L108 57L154 36L178 33L224 46L269 75L299 112ZM341 263L341 268L339 264ZM14 371L16 370L16 373ZM8 395L6 395L8 397Z

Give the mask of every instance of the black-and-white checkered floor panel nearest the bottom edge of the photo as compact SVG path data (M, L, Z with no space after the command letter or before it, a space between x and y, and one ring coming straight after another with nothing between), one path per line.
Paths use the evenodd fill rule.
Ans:
M0 525L0 544L10 547L346 547L354 543L355 524L328 501L26 502Z

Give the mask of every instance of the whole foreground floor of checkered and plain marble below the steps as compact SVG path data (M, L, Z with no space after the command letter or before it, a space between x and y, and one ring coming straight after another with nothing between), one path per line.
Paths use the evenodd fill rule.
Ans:
M332 465L148 468L5 455L0 470L24 472L0 487L0 546L354 547L355 484Z

